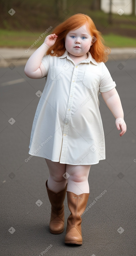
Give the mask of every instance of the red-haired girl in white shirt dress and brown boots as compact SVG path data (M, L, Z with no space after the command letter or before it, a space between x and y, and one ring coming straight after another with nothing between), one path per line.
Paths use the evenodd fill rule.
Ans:
M99 92L115 117L117 129L121 128L120 136L126 132L116 84L104 64L108 50L91 18L75 14L45 38L25 66L28 77L46 77L29 153L44 157L49 168L46 188L53 234L64 231L67 192L71 214L65 243L82 244L81 215L89 197L89 170L105 159Z

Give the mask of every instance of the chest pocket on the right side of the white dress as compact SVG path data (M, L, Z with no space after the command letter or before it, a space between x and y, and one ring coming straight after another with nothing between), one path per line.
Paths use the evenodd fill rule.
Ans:
M83 85L85 85L88 89L99 87L99 75L85 71L83 76Z

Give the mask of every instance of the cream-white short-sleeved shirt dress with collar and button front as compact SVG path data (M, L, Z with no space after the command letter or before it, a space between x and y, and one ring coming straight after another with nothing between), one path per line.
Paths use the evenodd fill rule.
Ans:
M105 159L98 95L116 84L105 64L87 54L76 65L67 51L42 58L47 76L33 120L30 155L71 165Z

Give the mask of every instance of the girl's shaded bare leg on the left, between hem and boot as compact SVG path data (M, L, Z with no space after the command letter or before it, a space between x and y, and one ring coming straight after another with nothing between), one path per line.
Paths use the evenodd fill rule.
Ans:
M63 177L63 174L66 172L66 164L53 162L46 158L45 160L49 168L49 178L47 186L55 193L58 193L65 188L67 183L67 180Z

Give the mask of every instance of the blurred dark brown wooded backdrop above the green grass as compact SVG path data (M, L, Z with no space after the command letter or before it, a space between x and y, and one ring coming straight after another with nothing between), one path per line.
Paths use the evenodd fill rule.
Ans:
M31 30L32 32L44 31L50 25L54 28L58 23L75 13L89 15L97 29L105 34L107 29L112 31L114 28L122 28L125 30L123 25L129 25L131 30L136 28L136 16L134 15L112 14L113 22L109 24L109 14L101 10L93 10L93 2L94 0L67 0L67 5L64 6L63 0L5 0L0 2L0 28ZM16 12L13 16L8 13L11 8Z

